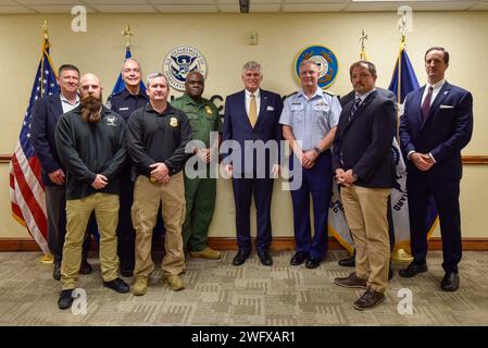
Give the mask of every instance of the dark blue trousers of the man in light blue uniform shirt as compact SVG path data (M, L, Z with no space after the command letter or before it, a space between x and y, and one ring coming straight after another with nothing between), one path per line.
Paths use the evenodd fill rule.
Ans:
M290 171L298 160L290 159ZM291 190L293 204L295 241L297 251L308 253L322 260L327 250L328 209L333 190L333 164L330 151L323 152L311 169L302 167L302 183L298 189ZM293 178L296 179L296 178ZM310 223L310 196L313 200L314 236Z

